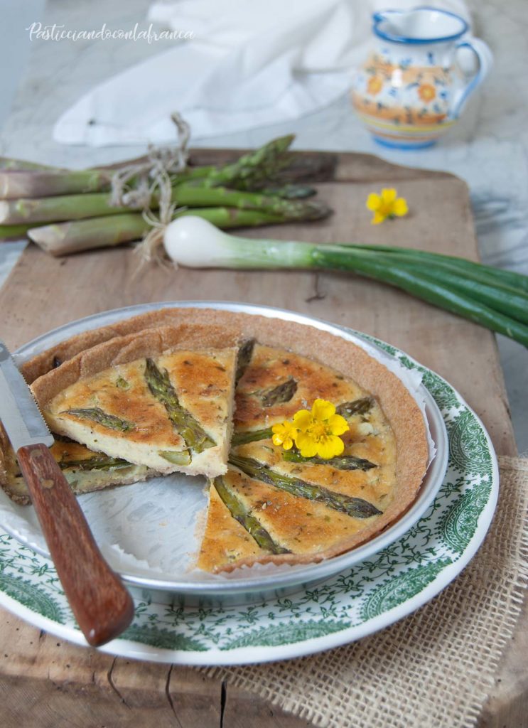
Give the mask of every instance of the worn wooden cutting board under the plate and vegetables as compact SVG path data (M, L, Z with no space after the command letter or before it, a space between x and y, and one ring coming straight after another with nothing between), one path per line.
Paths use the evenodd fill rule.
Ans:
M232 151L199 151L198 163ZM313 157L313 154L308 154ZM397 167L366 154L326 158L318 223L244 232L317 242L402 245L478 258L467 186L446 173ZM410 214L372 226L365 200L396 186ZM495 338L477 325L389 286L337 273L166 270L134 275L128 247L52 258L28 247L0 290L1 336L15 348L50 328L149 301L223 300L279 306L390 341L444 376L481 416L498 454L516 455ZM204 678L191 668L113 658L39 633L7 612L0 624L0 724L25 728L164 726L299 728L305 721ZM503 661L481 727L528 726L528 618Z

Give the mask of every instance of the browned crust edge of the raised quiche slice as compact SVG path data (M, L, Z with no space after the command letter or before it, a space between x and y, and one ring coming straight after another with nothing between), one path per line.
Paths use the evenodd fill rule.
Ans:
M213 325L159 326L96 344L79 352L56 369L31 384L42 408L79 379L87 379L111 366L127 364L145 357L156 357L175 349L225 349L236 345L236 331Z

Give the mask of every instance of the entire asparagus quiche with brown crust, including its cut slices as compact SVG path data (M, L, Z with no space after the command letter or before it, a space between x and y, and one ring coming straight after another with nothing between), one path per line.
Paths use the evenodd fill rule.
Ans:
M196 566L212 572L320 561L393 523L427 465L418 406L360 347L295 323L279 328L264 317L167 309L89 332L86 347L74 337L28 363L28 371L47 367L33 393L73 490L206 475ZM331 366L317 360L319 342ZM288 423L316 400L340 416L340 432L341 418L348 429L331 433L342 438L333 453L308 456ZM28 502L1 428L0 484Z

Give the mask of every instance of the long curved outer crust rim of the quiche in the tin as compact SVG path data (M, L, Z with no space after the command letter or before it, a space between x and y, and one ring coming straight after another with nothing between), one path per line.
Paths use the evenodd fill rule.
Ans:
M31 377L32 372L44 371L46 367L51 367L55 356L68 358L73 352L79 354L86 347L91 347L99 341L108 341L113 336L123 336L124 333L130 334L161 325L177 326L184 323L217 326L223 328L225 332L228 331L229 336L233 336L233 341L255 338L260 344L291 349L321 364L331 365L343 376L351 377L363 389L377 397L396 437L396 494L383 516L377 518L369 528L318 555L263 555L257 560L252 559L249 562L241 560L230 564L223 570L229 571L237 566L243 566L244 563L257 563L257 561L258 563L313 563L329 558L371 539L408 509L420 488L428 460L428 441L422 412L395 374L370 357L361 347L327 331L291 321L279 321L276 318L216 309L159 309L74 336L69 341L35 357L27 363L27 369L23 371L25 376L27 371L27 376ZM227 334L223 341L226 342L226 339ZM225 345L228 344L224 343ZM64 366L65 364L61 365L55 371L58 373Z

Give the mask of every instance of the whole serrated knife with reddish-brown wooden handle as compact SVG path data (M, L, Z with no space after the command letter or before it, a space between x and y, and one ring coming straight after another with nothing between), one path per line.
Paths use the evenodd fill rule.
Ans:
M0 341L0 419L17 454L71 610L92 646L118 636L134 603L106 563L68 481L49 451L54 440L31 389Z

